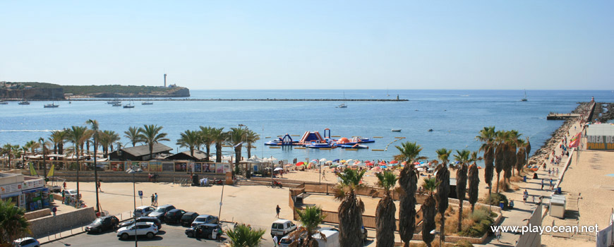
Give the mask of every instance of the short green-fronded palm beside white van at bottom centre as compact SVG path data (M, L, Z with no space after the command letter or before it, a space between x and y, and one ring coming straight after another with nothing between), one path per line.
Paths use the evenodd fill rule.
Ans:
M290 238L293 239L292 246L299 246L299 237L304 236L306 234L306 239L305 241L303 241L303 244L301 246L317 247L318 242L313 239L313 235L320 233L320 231L316 229L318 229L318 225L320 225L320 223L322 223L324 221L324 218L326 217L326 215L322 213L322 208L308 206L305 208L305 210L295 210L296 214L299 215L299 222L301 222L301 227L299 227L299 229L296 229L296 231L292 232L289 235ZM324 236L324 234L320 233L320 236ZM326 239L326 237L324 236L321 239Z

